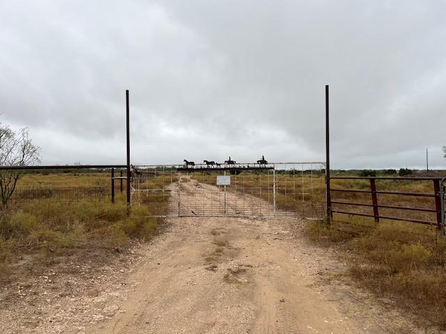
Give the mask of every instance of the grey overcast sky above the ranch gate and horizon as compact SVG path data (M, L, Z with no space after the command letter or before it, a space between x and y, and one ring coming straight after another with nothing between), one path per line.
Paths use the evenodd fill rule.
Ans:
M0 0L0 122L43 164L446 168L446 1Z

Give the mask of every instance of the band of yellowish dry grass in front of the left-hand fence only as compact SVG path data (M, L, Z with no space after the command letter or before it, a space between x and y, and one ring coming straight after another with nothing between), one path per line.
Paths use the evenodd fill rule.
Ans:
M32 200L20 208L0 212L0 262L12 262L22 253L50 255L76 248L115 248L130 237L148 239L157 227L146 207L124 200L53 202Z

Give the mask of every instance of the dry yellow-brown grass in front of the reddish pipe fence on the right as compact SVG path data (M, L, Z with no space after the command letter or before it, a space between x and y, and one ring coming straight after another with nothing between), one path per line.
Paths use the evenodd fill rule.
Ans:
M361 285L424 321L446 326L446 239L435 228L335 215L331 226L308 221L305 233L344 249L349 274Z

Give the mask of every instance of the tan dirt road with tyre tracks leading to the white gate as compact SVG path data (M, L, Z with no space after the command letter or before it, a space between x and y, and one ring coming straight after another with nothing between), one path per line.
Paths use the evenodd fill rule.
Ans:
M120 311L87 333L418 333L392 305L348 285L343 264L305 241L302 221L167 224Z

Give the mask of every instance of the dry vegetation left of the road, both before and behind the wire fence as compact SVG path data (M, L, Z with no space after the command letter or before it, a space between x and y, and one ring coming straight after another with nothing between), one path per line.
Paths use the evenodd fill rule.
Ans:
M169 180L168 180L169 179ZM73 253L100 251L104 255L121 251L130 239L150 239L161 223L160 218L169 209L169 196L134 198L127 214L125 181L123 193L119 180L115 182L115 202L111 202L110 174L104 173L24 173L17 182L15 194L26 187L54 187L64 189L103 188L100 198L47 198L47 193L35 191L37 198L13 200L0 210L0 271L8 276L10 265L23 256L31 255L40 264L55 257ZM148 184L166 186L167 177L154 177ZM103 195L105 194L105 195ZM87 194L88 196L88 194ZM2 276L0 274L0 276ZM1 278L1 277L0 277Z

